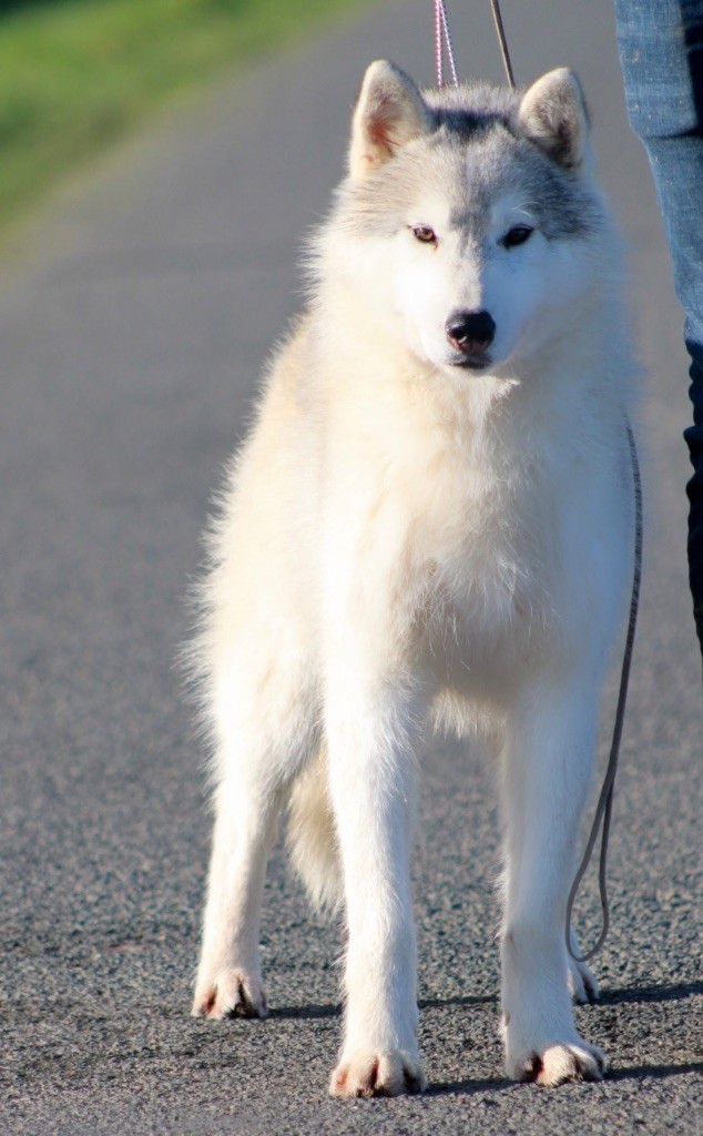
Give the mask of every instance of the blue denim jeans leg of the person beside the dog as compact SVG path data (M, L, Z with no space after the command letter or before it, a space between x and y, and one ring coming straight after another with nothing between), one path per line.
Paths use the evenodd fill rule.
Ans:
M703 0L614 0L633 130L664 219L691 356L688 576L703 650Z

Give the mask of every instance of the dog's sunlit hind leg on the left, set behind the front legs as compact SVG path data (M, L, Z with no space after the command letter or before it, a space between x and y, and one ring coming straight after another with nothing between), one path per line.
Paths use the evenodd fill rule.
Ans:
M266 864L290 785L312 752L312 699L299 675L254 661L232 669L216 702L216 817L193 1013L263 1017Z

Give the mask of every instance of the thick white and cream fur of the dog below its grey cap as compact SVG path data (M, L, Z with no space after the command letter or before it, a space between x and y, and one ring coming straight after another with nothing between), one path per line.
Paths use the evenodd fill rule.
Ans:
M428 128L416 94L403 120ZM408 219L443 234L436 249L405 226L357 240L333 214L212 536L196 650L216 825L194 1012L265 1012L261 892L288 808L312 895L343 894L338 1095L425 1085L409 863L427 720L502 738L508 1074L601 1075L570 1004L595 980L570 974L563 912L630 569L633 366L612 232L585 247L535 233L509 259L496 242L526 208L493 202L491 254L452 229L436 178ZM495 364L475 375L450 365L444 321L478 307Z

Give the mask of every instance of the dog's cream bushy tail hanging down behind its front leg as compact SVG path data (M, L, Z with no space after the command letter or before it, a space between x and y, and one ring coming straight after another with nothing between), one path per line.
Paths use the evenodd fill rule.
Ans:
M342 866L323 750L296 778L287 817L291 860L311 903L336 911L342 903Z

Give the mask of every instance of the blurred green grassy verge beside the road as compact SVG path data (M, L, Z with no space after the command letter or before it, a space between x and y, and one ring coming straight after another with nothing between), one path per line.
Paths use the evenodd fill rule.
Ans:
M368 2L0 5L0 227L168 95Z

